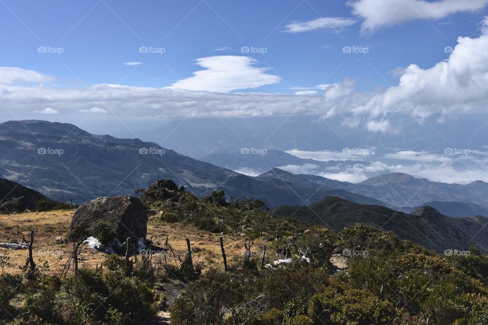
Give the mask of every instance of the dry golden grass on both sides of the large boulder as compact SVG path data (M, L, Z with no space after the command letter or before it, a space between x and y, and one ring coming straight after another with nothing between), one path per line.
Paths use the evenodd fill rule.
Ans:
M22 236L28 240L28 233L35 229L34 260L38 267L44 262L49 264L48 273L62 272L66 261L72 255L73 244L57 244L56 237L66 237L69 232L71 218L74 210L59 210L49 212L26 212L16 214L0 214L0 242L21 242ZM157 218L157 217L151 217ZM156 225L155 225L156 224ZM159 224L150 220L147 226L147 238L152 239L156 247L163 247L166 237L176 255L181 259L185 256L187 245L185 238L192 243L194 262L203 263L204 267L210 265L222 266L219 234L199 231L186 224ZM244 251L243 237L224 235L224 244L227 262L236 262ZM261 254L263 241L256 240L253 252ZM4 272L20 273L25 264L27 250L14 250L0 248L0 255L8 252L10 266ZM86 248L80 255L80 267L95 267L105 258L105 254Z

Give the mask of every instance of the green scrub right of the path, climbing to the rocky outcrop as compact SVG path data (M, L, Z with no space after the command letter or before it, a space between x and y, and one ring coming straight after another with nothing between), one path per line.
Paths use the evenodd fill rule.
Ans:
M393 232L359 224L334 232L273 218L258 200L216 202L186 200L153 222L263 238L267 266L255 248L251 263L205 270L171 307L173 324L488 324L488 258L475 247L445 257Z

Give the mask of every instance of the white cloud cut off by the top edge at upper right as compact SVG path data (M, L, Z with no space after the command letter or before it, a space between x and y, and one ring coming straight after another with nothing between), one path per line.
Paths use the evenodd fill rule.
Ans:
M352 13L363 19L361 30L371 32L417 19L442 19L458 12L475 12L488 0L351 0Z

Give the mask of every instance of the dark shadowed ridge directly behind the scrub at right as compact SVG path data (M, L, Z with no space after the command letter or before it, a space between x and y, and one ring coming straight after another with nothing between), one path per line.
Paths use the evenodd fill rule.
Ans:
M326 197L310 206L281 206L272 209L277 216L330 227L335 231L356 223L391 230L402 239L443 252L449 248L467 249L476 244L488 251L488 218L450 218L432 207L407 214L377 205L361 205L340 198Z

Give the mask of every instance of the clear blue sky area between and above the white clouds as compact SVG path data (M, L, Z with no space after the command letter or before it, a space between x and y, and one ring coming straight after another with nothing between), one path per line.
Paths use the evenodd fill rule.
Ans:
M296 90L291 87L336 83L345 77L356 81L357 90L369 91L397 84L398 78L388 74L395 67L415 63L429 68L446 59L444 47L454 47L459 36L479 34L486 15L484 8L364 32L364 19L351 10L344 1L335 0L4 0L0 37L6 50L0 53L0 65L54 76L53 83L62 87L119 83L165 87L202 70L195 65L197 58L246 55L281 81L240 91L292 94ZM357 21L345 28L286 32L294 21L320 17ZM63 53L43 55L37 52L39 46L63 48ZM139 53L141 46L164 48L165 52ZM263 48L266 53L243 54L243 46ZM344 46L367 47L368 53L345 54ZM126 62L142 64L124 65Z

